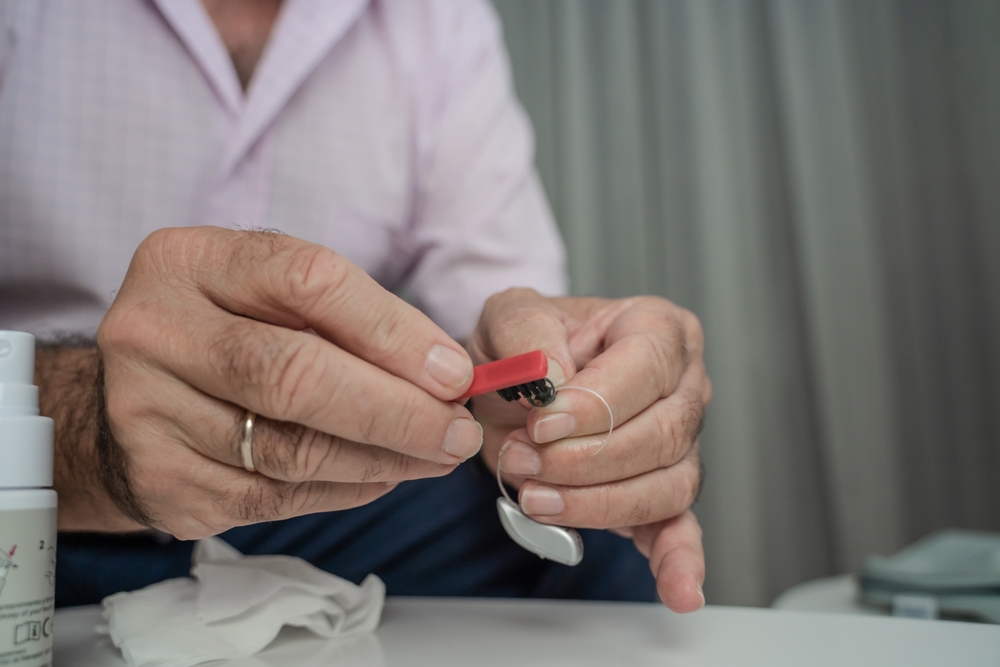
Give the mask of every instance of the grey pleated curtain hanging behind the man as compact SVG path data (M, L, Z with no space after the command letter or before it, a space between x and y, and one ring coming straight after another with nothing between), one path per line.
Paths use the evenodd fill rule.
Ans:
M1000 3L495 4L574 291L704 324L709 601L1000 529Z

